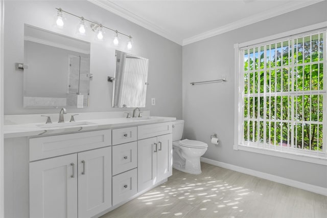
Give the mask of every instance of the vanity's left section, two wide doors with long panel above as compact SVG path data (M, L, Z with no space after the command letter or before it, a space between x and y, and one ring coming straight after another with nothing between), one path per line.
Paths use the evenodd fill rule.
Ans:
M30 150L52 156L69 142L102 148L30 162L30 217L91 217L111 207L111 130L34 138Z

